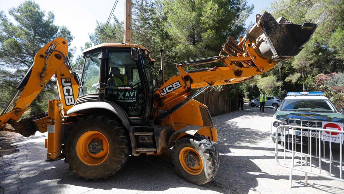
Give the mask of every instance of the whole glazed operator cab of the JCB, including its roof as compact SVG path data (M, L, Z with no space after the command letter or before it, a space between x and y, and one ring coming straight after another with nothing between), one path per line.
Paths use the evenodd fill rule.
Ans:
M148 49L135 44L103 43L83 54L85 63L75 104L105 101L120 107L130 123L146 123L157 88L155 60Z

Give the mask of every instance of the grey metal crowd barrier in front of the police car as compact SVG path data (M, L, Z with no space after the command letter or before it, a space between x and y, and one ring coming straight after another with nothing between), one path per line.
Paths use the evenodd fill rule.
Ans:
M308 184L308 174L344 182L342 178L343 128L341 127L341 130L324 129L321 124L321 121L314 120L284 119L282 125L276 128L276 136L271 136L276 138L274 153L276 162L290 169L290 188L293 170L304 172L305 184ZM281 133L278 133L279 129L281 129ZM328 142L322 140L323 132L329 133L331 138ZM281 136L280 140L277 135ZM335 139L337 142L339 140L338 136L340 136L340 143L335 144L333 142L332 137L334 136L337 137ZM328 135L324 134L325 137L328 137ZM284 151L283 162L280 162L278 158L280 157L278 156L279 141ZM333 149L334 146L336 149ZM295 156L295 154L300 155L300 157ZM289 159L290 157L291 159Z

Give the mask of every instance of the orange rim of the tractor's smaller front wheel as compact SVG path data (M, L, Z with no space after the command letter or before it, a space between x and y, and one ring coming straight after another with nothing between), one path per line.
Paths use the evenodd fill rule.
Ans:
M192 147L184 147L179 152L179 161L183 169L191 175L199 175L203 171L202 158Z

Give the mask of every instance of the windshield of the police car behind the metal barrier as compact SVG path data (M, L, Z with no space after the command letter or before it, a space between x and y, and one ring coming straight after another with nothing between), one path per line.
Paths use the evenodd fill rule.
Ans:
M336 113L327 99L284 99L280 110L297 112Z

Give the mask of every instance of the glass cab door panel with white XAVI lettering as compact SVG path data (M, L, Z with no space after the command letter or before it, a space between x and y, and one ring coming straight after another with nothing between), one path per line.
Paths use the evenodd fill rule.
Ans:
M145 91L139 62L132 59L130 48L108 49L107 54L105 101L121 107L128 118L143 117L144 104L139 98Z

